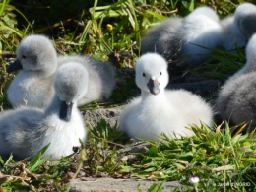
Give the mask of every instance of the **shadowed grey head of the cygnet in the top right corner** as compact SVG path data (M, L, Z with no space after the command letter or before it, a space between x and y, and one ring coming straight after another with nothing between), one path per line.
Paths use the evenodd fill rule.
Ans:
M240 32L249 39L256 32L256 6L252 3L240 4L235 9L234 22Z

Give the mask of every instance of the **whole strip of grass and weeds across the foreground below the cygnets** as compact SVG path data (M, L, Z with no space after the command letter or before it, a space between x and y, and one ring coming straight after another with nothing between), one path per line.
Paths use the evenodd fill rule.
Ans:
M256 136L254 132L241 135L245 128L246 124L230 128L224 122L210 130L202 124L201 128L191 128L196 134L192 138L170 140L163 135L161 142L145 140L150 145L149 151L127 159L124 157L130 154L124 151L122 132L102 120L95 128L88 126L90 136L86 148L82 145L80 155L75 157L57 161L48 161L48 157L41 159L46 146L31 161L0 159L0 183L6 190L65 191L70 187L70 179L81 170L86 177L178 180L187 186L175 191L191 190L189 178L192 176L200 178L199 191L209 191L209 188L211 191L224 188L225 191L253 191ZM149 191L162 187L155 183Z

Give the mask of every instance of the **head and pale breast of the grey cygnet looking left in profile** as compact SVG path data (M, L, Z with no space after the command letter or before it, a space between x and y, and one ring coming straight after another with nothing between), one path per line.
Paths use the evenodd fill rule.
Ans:
M21 71L7 90L12 106L49 106L57 70L57 53L50 39L37 34L23 39L17 49L17 60L7 68L8 73L16 70Z

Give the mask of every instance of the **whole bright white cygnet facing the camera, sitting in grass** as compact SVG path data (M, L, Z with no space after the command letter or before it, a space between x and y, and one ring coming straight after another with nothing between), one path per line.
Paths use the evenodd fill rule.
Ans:
M142 96L132 100L119 118L119 129L130 137L159 140L162 132L170 138L193 136L189 125L211 126L211 107L199 96L184 90L165 91L168 83L166 61L156 53L147 53L136 64L136 84Z

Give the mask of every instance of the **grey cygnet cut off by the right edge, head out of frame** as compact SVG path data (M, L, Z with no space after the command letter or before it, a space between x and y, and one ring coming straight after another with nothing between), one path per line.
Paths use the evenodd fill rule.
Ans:
M232 124L245 121L256 126L256 34L246 46L246 64L231 76L219 93L216 107Z

